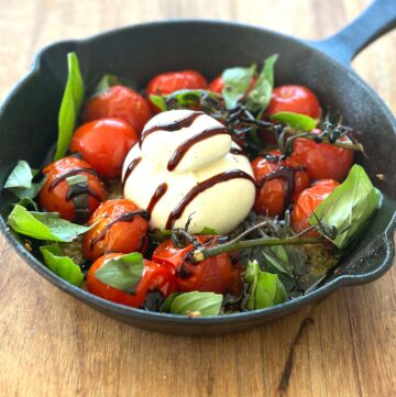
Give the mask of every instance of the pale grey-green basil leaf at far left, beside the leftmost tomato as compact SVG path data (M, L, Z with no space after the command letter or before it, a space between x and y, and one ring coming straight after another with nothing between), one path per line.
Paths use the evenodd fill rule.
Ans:
M24 159L20 159L8 177L4 188L14 194L18 198L34 198L45 184L43 178L40 183L33 184L36 175Z

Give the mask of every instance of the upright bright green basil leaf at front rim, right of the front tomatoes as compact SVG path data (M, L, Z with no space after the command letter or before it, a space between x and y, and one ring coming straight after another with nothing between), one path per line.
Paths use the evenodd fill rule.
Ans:
M286 289L278 276L261 271L256 261L249 261L244 280L250 284L249 310L263 309L286 301Z

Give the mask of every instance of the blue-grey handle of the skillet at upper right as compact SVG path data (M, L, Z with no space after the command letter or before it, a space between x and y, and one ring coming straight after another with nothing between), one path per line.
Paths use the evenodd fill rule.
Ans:
M349 65L370 43L394 27L396 27L396 0L374 0L340 32L310 44Z

